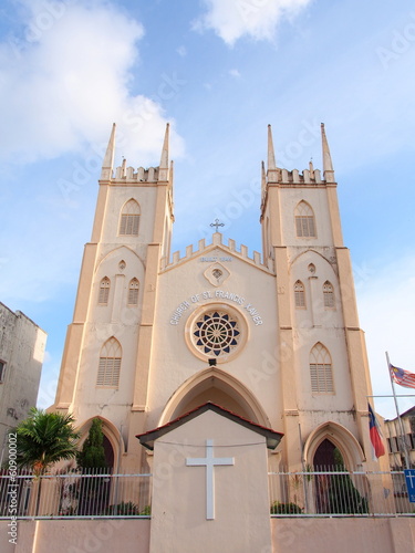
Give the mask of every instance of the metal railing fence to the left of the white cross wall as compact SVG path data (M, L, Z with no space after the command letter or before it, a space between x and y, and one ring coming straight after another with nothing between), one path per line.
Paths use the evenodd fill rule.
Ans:
M28 473L0 476L0 519L61 519L151 514L151 474Z

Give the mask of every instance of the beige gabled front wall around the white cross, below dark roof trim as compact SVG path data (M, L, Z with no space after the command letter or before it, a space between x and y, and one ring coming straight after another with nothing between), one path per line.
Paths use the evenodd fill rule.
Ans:
M206 468L186 459L214 458L215 518L208 520ZM155 442L151 553L252 553L270 546L267 446L263 436L206 411Z

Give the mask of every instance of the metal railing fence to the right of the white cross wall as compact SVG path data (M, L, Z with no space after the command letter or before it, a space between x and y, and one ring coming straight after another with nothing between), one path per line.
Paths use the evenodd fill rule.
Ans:
M404 473L269 472L271 517L408 517Z

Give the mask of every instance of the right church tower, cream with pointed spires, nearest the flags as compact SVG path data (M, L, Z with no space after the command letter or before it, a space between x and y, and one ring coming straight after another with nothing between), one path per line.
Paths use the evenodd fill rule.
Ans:
M321 136L323 175L311 161L303 174L279 168L270 126L267 173L262 168L262 241L264 260L276 270L284 458L291 467L300 459L303 467L330 466L338 447L345 463L356 467L370 461L371 383L323 124Z

